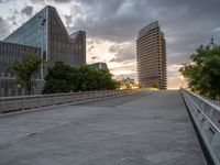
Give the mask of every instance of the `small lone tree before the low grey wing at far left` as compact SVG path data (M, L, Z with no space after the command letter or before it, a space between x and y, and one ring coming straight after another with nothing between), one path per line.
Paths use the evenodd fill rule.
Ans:
M15 62L9 68L18 76L19 82L26 88L29 95L32 92L32 78L37 73L41 64L42 59L37 56L26 55L21 63Z

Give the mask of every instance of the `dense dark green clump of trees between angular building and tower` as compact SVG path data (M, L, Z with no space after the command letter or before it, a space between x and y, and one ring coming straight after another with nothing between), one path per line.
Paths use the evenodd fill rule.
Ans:
M48 69L44 94L117 89L117 81L106 69L70 67L58 62Z

